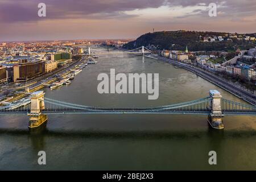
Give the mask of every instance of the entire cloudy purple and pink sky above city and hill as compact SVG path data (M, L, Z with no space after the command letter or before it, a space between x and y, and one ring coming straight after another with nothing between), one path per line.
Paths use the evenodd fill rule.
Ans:
M38 16L39 3L46 17ZM133 39L153 28L253 33L256 0L0 0L0 42Z

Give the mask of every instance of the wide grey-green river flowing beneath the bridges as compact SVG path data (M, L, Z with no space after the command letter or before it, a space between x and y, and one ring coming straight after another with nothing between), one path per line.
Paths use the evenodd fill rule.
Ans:
M100 54L71 85L44 89L46 97L102 107L170 105L207 97L217 89L228 100L243 102L184 69L148 57ZM147 94L99 94L99 73L159 73L159 98ZM26 115L0 116L0 169L173 170L256 169L256 118L225 117L225 129L209 129L206 115L48 115L46 130L28 132ZM39 166L38 152L47 164ZM210 166L208 152L217 152Z

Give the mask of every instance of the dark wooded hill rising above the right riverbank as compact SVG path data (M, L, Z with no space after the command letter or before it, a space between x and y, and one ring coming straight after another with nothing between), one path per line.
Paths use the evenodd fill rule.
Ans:
M230 33L227 32L197 32L197 31L162 31L147 33L140 36L137 40L129 42L123 48L133 49L146 46L151 49L170 49L184 50L188 46L189 51L222 51L235 50L238 47L247 49L255 47L255 40L229 39ZM236 34L242 38L249 34ZM250 36L256 34L250 34ZM222 36L224 41L216 39L214 42L203 42L204 37Z

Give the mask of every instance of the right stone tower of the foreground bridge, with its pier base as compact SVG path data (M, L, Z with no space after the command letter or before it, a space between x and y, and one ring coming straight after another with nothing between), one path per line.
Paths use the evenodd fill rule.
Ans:
M208 122L213 129L224 129L222 121L224 114L221 111L221 93L218 90L210 90L209 94L211 99L209 101L210 114L208 115Z

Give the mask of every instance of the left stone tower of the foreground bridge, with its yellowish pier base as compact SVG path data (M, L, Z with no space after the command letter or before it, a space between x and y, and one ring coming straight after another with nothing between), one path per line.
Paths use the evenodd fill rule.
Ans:
M29 128L35 128L42 125L47 121L47 115L42 114L41 111L44 110L44 92L37 91L31 94L31 109L28 113L30 121L28 122Z

